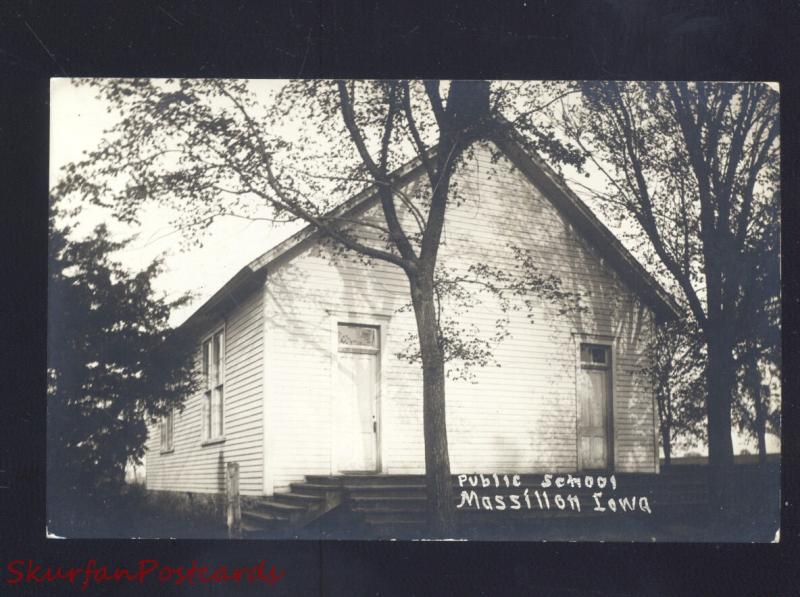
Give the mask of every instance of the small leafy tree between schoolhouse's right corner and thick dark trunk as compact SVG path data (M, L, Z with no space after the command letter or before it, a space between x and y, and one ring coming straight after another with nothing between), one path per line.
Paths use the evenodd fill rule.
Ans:
M659 325L648 348L643 373L656 398L664 464L672 461L672 448L693 447L705 433L705 358L696 330L685 321Z

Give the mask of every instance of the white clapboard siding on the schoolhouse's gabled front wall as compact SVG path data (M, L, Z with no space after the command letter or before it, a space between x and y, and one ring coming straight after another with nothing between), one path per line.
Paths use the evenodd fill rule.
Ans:
M493 163L479 147L455 180L466 199L448 207L440 263L466 267L479 261L517 268L506 246L529 249L543 274L581 294L587 313L559 315L542 301L531 323L511 313L512 337L495 350L500 367L477 371L476 383L448 381L450 459L459 471L569 471L577 466L576 344L574 332L614 336L615 466L653 471L652 393L637 372L652 315L580 238L548 199L510 162ZM406 218L406 226L412 223ZM292 252L269 268L266 327L272 393L270 462L276 491L305 474L331 472L332 328L329 312L388 319L382 370L383 471L420 473L421 372L394 357L414 332L404 274L376 261L370 267L331 262L315 245ZM492 333L500 315L491 300L459 320ZM358 322L358 316L345 318Z

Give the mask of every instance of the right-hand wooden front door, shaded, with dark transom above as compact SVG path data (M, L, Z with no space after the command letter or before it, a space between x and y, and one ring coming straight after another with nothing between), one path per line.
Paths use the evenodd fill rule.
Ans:
M608 346L581 345L578 372L578 466L611 466L611 351Z

